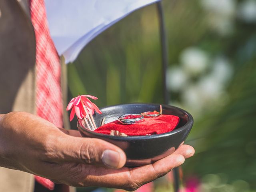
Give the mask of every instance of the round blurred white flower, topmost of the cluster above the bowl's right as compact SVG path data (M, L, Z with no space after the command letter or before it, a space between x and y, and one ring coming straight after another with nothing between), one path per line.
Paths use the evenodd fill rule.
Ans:
M182 52L180 60L186 73L192 76L201 74L208 66L208 55L196 47L186 48Z

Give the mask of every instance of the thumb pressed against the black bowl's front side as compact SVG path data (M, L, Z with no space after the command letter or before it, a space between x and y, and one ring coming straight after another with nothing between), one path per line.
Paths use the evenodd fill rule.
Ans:
M107 168L122 168L126 162L124 151L104 140L67 136L58 143L58 162L77 162Z

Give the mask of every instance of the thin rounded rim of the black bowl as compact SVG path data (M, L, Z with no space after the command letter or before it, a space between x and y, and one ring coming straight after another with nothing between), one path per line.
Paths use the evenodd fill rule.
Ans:
M127 104L117 104L117 105L110 105L110 106L102 107L102 108L100 108L100 110L104 111L105 108L111 108L111 107L122 106L122 105L137 105L137 104L140 104L140 105L156 105L156 106L160 105L160 104L154 104L154 103L127 103ZM104 137L104 138L108 138L108 139L112 139L112 140L114 139L114 140L122 140L122 141L124 141L124 140L145 140L145 139L148 140L148 139L162 138L162 137L167 137L167 136L177 134L177 133L182 132L183 130L185 130L187 128L192 127L192 126L189 126L189 125L193 124L194 119L193 119L192 115L189 112L187 112L186 110L181 109L179 107L176 107L176 106L167 105L167 104L161 104L161 105L166 106L166 107L175 108L177 110L180 110L180 111L184 112L188 116L188 122L186 122L186 124L184 124L183 126L172 130L171 132L166 132L166 133L156 134L156 135L148 135L148 136L128 136L128 137L106 135L106 134L97 133L97 132L85 129L82 126L79 125L80 121L82 121L83 119L78 119L77 127L78 127L78 130L82 129L86 132L89 132L92 135L95 135L95 136L98 136L98 137L101 137L101 138Z

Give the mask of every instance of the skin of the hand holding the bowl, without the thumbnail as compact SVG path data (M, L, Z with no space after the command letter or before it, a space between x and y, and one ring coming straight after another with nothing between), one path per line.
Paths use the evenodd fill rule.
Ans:
M111 168L102 161L105 150L117 154ZM59 129L26 112L0 115L0 166L70 186L136 190L180 166L193 154L194 148L182 145L154 164L126 168L125 153L113 144L82 138L76 130Z

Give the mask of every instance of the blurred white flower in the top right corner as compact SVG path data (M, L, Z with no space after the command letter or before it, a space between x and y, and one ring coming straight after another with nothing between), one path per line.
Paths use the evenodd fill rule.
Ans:
M256 22L256 0L246 0L239 4L238 17L248 23Z

